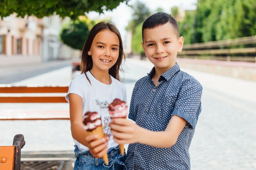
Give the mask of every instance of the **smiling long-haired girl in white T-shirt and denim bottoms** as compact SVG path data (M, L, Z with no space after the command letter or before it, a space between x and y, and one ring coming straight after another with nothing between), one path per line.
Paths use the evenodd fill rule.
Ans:
M119 98L126 101L126 88L119 82L124 56L121 35L112 23L100 22L90 31L81 56L81 75L74 77L66 99L70 104L70 123L75 142L74 170L126 170L119 146L113 140L108 124L108 105ZM107 136L98 139L83 129L83 115L97 111ZM108 152L109 165L103 154Z

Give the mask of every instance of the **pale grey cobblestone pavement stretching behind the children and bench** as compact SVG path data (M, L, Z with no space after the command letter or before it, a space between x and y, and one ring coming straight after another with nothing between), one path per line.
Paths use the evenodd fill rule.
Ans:
M124 84L128 101L137 79L151 68L150 62L127 59ZM182 70L193 75L203 86L202 112L190 147L191 170L255 170L256 82ZM61 79L66 79L68 71L70 68L62 68L60 73L63 76L58 71L54 74L58 81L63 81ZM45 79L48 83L52 81ZM35 78L34 81L39 80ZM0 110L11 107L12 104L0 104ZM15 106L18 107L25 106ZM53 106L29 105L33 109L40 107L47 110ZM67 105L55 107L53 109L68 108ZM70 123L66 120L0 121L1 145L11 145L13 136L18 133L25 136L23 151L73 150Z

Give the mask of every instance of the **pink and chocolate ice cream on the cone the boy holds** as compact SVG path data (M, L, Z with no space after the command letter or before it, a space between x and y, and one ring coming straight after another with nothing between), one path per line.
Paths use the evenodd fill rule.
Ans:
M125 118L128 113L128 105L126 102L115 99L108 107L111 118Z

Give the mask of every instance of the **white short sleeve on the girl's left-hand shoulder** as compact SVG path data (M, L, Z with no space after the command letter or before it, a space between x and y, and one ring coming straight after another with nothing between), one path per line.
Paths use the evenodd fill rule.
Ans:
M82 84L82 82L79 81L79 79L76 79L76 77L71 81L70 86L68 88L68 92L65 96L65 99L67 102L69 102L69 97L68 95L70 93L77 94L82 97L82 99L85 98L85 86Z

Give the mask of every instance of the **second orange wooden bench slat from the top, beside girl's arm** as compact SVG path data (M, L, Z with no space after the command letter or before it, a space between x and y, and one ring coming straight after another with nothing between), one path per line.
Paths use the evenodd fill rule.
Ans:
M67 103L63 96L51 97L0 97L0 103Z

